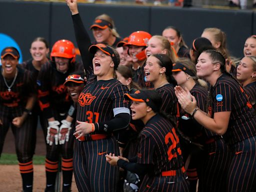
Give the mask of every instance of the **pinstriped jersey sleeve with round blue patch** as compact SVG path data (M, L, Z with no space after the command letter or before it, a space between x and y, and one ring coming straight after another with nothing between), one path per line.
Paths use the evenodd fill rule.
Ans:
M233 97L233 89L228 84L216 84L212 92L214 112L231 111Z

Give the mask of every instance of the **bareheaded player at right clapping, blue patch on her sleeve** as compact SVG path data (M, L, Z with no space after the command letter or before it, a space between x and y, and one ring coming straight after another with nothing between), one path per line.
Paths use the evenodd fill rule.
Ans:
M225 58L216 50L205 50L198 57L197 75L212 86L209 116L196 107L196 100L181 87L175 93L181 107L205 128L222 135L229 145L227 191L254 191L256 188L256 116L238 82L225 72ZM188 97L191 96L192 101ZM248 171L249 170L249 171Z

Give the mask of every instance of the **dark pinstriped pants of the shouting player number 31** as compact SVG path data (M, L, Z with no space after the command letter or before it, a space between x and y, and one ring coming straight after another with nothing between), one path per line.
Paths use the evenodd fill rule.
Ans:
M119 154L114 136L75 142L74 178L79 191L116 191L119 168L106 162L105 154Z

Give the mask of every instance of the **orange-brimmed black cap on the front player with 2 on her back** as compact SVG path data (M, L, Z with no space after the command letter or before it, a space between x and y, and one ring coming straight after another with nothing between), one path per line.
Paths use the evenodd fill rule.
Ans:
M159 111L159 105L152 102L151 97L147 95L146 90L136 90L133 94L125 93L124 97L136 102L145 102L148 106L152 108L154 112Z

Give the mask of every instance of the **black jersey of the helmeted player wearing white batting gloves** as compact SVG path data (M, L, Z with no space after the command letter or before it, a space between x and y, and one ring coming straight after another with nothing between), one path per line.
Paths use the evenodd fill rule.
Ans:
M59 113L68 111L72 100L63 83L68 74L74 71L82 71L82 64L78 62L69 64L65 73L57 71L53 62L42 65L37 77L38 100L46 118L53 116L52 108L55 108Z

